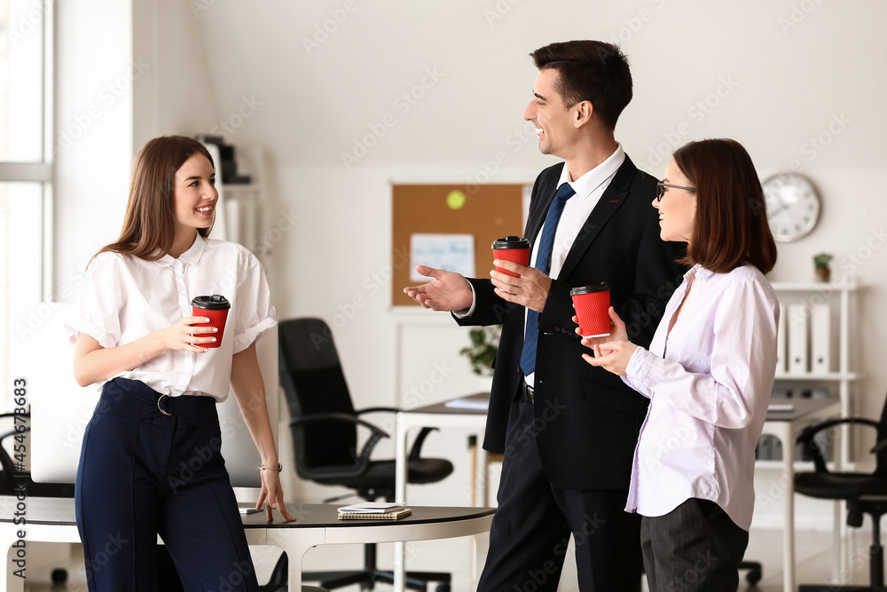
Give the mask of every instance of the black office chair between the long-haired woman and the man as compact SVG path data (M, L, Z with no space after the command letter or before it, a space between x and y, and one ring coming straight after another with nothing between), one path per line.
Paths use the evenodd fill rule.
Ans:
M359 415L396 413L393 407L355 411L330 328L320 319L294 319L279 323L280 386L287 397L290 430L299 477L323 485L357 490L367 501L395 501L395 462L373 461L373 447L388 434ZM357 452L357 426L371 430ZM436 483L452 472L452 464L439 458L422 458L420 449L430 428L416 437L409 455L407 482ZM336 498L332 498L333 501ZM392 572L376 568L376 545L365 545L365 564L352 572L306 572L305 580L320 581L324 588L360 584L373 589L375 582L393 582ZM427 590L429 581L440 582L438 592L449 592L450 573L407 572L407 588Z

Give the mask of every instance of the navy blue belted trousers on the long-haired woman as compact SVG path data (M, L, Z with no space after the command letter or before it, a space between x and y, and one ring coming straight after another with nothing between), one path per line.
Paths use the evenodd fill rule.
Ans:
M220 453L216 400L105 384L75 485L90 592L157 590L157 535L188 592L256 592L237 500Z

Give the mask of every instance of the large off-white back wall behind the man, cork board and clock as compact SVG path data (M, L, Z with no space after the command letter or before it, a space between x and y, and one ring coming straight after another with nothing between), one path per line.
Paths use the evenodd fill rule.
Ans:
M865 347L857 362L867 378L854 391L861 413L880 413L887 389L881 363L887 349L887 249L881 249L887 118L880 101L887 91L887 5L198 0L185 8L157 2L148 13L160 23L162 36L154 38L162 41L153 47L165 66L149 72L160 72L163 83L150 95L153 127L139 124L146 115L137 109L136 144L155 133L227 122L233 144L263 146L271 165L266 228L296 218L274 244L269 270L281 317L337 321L358 406L412 405L412 389L436 363L453 371L420 402L477 384L458 355L467 343L464 330L443 315L389 308L389 183L476 180L499 152L507 162L493 180L531 182L555 161L538 154L521 120L536 74L527 54L553 41L599 38L621 43L632 61L635 99L617 136L642 168L661 175L673 147L728 136L749 149L762 178L796 162L820 187L820 225L804 240L781 245L772 278L812 279L812 255L827 250L836 255L836 272L855 272L868 286L860 298ZM147 27L136 22L135 38ZM108 61L107 53L113 52L100 61ZM427 88L416 90L422 96L404 102L402 94L423 79ZM341 154L379 130L386 114L396 125L346 167ZM105 152L90 148L78 158L90 162L95 154ZM109 155L113 199L110 192L78 189L70 212L83 221L84 205L94 211L98 200L102 219L116 230L122 205L114 200L125 199L117 178L128 173L129 162L115 151ZM75 255L61 257L63 269L98 241L73 231L62 239L77 246ZM349 308L355 296L365 304ZM428 445L456 456L445 436L429 438ZM451 491L415 494L420 501L443 500L460 488L461 482L450 482ZM326 491L298 489L308 497Z

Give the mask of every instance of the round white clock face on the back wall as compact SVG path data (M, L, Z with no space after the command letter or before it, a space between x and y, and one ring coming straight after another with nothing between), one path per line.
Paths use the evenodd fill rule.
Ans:
M797 241L812 231L820 217L820 196L812 183L800 175L774 175L764 182L767 221L773 238Z

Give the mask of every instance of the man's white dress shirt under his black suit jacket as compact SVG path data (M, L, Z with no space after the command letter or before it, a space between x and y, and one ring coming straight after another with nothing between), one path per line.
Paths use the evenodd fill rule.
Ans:
M589 170L585 175L577 178L575 181L569 180L569 170L567 170L566 162L564 163L563 170L561 170L561 178L557 182L557 187L560 187L564 183L569 183L569 186L573 188L576 195L573 195L567 200L567 203L563 208L563 213L561 213L561 219L558 221L557 230L554 231L552 264L548 271L548 277L554 280L557 279L558 274L561 272L561 267L563 267L563 262L567 259L567 255L569 255L569 249L572 248L573 243L576 241L576 237L579 235L579 231L582 230L582 225L584 225L585 220L591 216L594 206L598 204L600 196L603 195L610 182L616 177L616 171L619 170L619 167L622 166L623 162L625 162L625 152L622 149L622 144L616 144L616 150L613 154L608 156L606 161L601 162L598 166ZM537 237L542 236L544 227L545 224L543 223L542 227L539 228ZM536 244L533 245L533 252L530 254L530 267L536 267L538 250L539 244L537 241ZM472 302L470 308L468 308L468 311L464 314L457 313L457 317L465 318L470 316L472 312L475 312L474 286L471 287L471 293ZM523 314L524 327L526 327L527 312L524 311ZM532 386L535 377L535 372L526 376L527 384Z

